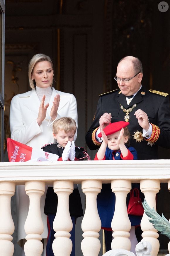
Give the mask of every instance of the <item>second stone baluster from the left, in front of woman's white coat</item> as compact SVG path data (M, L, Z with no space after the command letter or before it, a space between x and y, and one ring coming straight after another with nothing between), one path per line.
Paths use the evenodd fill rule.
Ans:
M29 196L30 204L28 216L24 225L27 242L24 245L26 256L40 256L43 252L41 242L44 226L41 217L40 199L45 192L45 182L26 181L25 191Z

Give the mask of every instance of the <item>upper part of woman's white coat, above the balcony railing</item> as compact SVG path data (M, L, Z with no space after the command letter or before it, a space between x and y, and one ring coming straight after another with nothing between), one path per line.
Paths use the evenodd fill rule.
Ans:
M60 94L58 115L60 117L71 117L77 125L77 102L74 95L63 93L52 87L50 105L47 108L46 118L40 126L37 123L40 100L35 90L18 94L13 97L10 108L10 130L11 139L26 144L32 148L40 149L43 145L54 140L52 135L52 119L50 110L52 101L56 94ZM74 140L77 138L77 133Z

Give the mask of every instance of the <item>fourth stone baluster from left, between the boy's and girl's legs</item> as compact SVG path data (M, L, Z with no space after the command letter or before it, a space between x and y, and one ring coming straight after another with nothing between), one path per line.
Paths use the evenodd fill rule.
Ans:
M97 256L100 251L98 232L101 229L101 220L97 210L97 195L102 188L102 182L96 180L82 181L81 188L86 195L86 210L81 223L84 231L84 239L81 242L81 250L84 256Z

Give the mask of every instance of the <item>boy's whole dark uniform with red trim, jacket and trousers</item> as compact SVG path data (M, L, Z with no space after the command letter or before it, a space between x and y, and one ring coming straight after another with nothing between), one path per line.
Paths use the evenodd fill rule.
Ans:
M50 144L44 145L42 148L43 148L43 151L45 152L57 154L59 156L58 161L62 161L62 153L64 151L64 148L60 144L50 143ZM75 160L84 160L84 153L83 153L84 148L75 147L75 152L76 152ZM67 161L69 161L69 158ZM47 189L47 194L45 197L45 206L44 206L44 213L48 216L47 217L48 237L47 237L47 248L46 248L47 256L54 256L54 253L52 252L52 242L55 239L54 237L55 231L52 227L52 224L55 218L55 214L57 212L57 204L58 204L57 194L54 192L53 187L49 186ZM74 188L73 192L69 196L69 212L73 222L73 229L75 229L74 221L76 221L78 217L81 217L84 215L82 205L81 205L81 197L80 197L78 188ZM71 240L73 242L73 249L72 249L71 255L75 255L75 251L74 251L74 247L75 247L74 232L75 231L73 233L72 232L70 232Z

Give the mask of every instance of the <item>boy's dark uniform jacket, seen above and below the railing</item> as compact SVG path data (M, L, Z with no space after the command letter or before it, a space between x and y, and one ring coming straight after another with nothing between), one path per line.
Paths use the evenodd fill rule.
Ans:
M64 148L59 144L51 144L43 147L43 151L57 154L59 157L62 156ZM84 157L83 151L80 148L75 148L76 158ZM83 159L81 159L83 160ZM45 198L44 213L56 214L57 212L57 194L55 194L53 187L48 187ZM78 189L73 189L73 193L69 196L69 212L71 216L81 217L83 216L83 209L81 205L81 198Z

